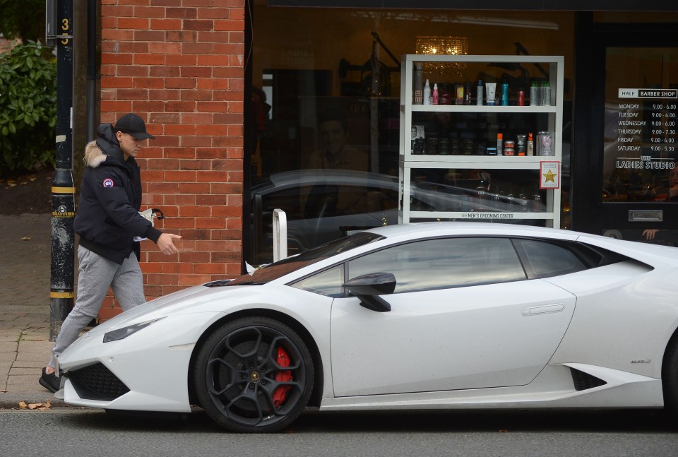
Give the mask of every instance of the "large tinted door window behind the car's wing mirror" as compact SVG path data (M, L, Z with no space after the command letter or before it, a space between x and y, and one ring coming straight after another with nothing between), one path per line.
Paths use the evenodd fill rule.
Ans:
M446 238L400 244L348 264L350 278L385 272L396 276L395 293L525 279L509 239Z

